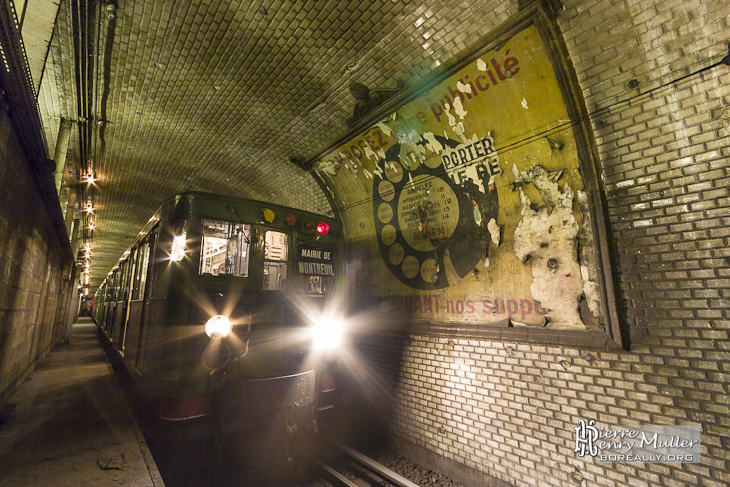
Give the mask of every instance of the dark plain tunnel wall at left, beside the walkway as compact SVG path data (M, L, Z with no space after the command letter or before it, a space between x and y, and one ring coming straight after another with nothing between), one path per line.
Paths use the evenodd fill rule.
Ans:
M73 283L10 122L0 112L0 405L64 332ZM49 175L51 177L51 175ZM68 264L68 263L67 263Z

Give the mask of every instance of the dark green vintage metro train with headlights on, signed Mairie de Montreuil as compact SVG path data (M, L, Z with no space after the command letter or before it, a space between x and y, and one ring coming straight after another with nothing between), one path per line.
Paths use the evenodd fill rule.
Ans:
M271 203L176 195L99 287L94 319L160 418L294 435L331 407L342 232Z

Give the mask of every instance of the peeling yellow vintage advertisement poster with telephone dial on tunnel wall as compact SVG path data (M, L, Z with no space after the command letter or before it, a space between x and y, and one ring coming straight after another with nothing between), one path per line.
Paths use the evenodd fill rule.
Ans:
M601 309L579 166L530 26L315 170L363 249L365 295L434 322L583 330Z

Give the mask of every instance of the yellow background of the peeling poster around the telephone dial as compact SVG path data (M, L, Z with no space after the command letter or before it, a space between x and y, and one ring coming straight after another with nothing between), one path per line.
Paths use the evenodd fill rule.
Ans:
M457 155L455 163L446 164L444 154L449 151L428 142L436 136L465 147L491 138L496 149L496 161L492 163L498 164L501 173L493 177L492 184L476 181L476 168L487 164L484 159L469 162L478 159L476 149L465 150L461 159ZM395 145L400 147L398 159L391 157L385 161L385 153ZM442 169L441 180L471 180L485 194L497 192L496 226L487 231L489 222L481 221L480 228L490 238L486 245L483 238L475 239L480 248L473 251L483 255L475 262L474 271L463 277L454 272L454 256L448 251L444 255L444 269L433 262L414 262L411 251L418 250L419 245L428 246L427 243L406 236L407 244L403 245L395 243L388 234L393 233L390 228L376 231L376 227L399 218L400 227L412 225L403 223L409 218L403 208L411 211L413 205L408 206L406 197L400 194L403 191L394 193L393 183L408 180L403 190L423 183L423 176L412 176L420 164ZM538 165L548 173L559 174L558 183L563 190L568 186L583 190L566 104L547 49L537 29L530 26L322 158L315 170L331 189L336 210L342 213L345 237L354 249L356 262L351 267L355 269L352 287L356 293L383 298L411 296L410 301L400 302L411 303L416 317L423 320L542 326L545 310L530 291L531 266L523 263L514 249L515 230L523 218L519 189L533 207L547 205L534 185L520 184L520 174ZM439 178L434 183L444 185ZM431 198L429 206L437 201L436 191L414 191L420 191L422 199ZM447 191L448 188L442 190ZM458 209L449 211L458 214ZM582 224L583 214L577 203L573 213L578 224ZM428 218L426 215L422 220ZM478 212L474 218L479 221ZM453 226L453 220L449 225ZM441 231L448 234L452 231L449 225ZM386 250L379 250L386 244ZM448 286L424 290L407 285L389 269L394 262L399 262L400 272L407 274L407 278L426 281L434 277L434 272L445 273ZM419 276L413 277L416 274Z

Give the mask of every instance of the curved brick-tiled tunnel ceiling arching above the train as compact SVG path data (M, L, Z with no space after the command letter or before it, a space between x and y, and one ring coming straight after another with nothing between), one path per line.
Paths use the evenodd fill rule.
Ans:
M349 84L412 86L510 9L516 0L62 0L39 105L49 154L60 120L77 122L65 184L90 168L98 178L92 292L186 189L331 213L289 159L347 132Z

